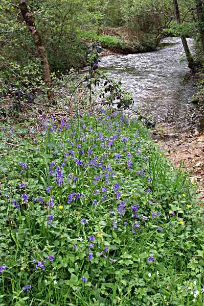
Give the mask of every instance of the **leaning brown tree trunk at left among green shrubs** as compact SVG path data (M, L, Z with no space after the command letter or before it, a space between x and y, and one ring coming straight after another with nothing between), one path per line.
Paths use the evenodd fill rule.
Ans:
M50 67L48 63L48 58L47 58L47 53L46 53L46 48L42 44L41 36L38 30L36 29L35 26L35 18L32 14L32 12L29 11L26 0L20 0L20 11L22 14L22 17L24 18L27 27L32 35L33 42L36 45L38 49L38 54L41 59L41 63L43 65L44 69L44 81L45 82L51 82L50 79Z

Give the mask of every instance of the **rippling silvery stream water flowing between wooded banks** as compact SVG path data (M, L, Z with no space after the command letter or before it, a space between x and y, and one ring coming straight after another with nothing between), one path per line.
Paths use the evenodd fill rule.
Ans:
M165 38L162 43L155 52L104 56L100 69L121 79L141 114L157 123L169 122L177 130L189 130L199 121L199 111L191 103L196 80L189 73L180 38ZM188 43L193 50L193 40Z

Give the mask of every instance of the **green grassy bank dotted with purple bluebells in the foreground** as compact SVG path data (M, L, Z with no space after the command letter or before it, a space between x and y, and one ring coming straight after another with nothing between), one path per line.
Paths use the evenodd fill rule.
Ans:
M203 305L195 186L145 127L103 111L27 125L0 135L0 306Z

